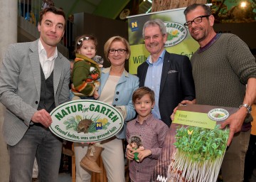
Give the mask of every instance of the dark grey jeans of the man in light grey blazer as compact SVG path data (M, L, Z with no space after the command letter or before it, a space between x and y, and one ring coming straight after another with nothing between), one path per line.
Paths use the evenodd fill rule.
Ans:
M38 181L57 182L62 150L62 139L41 124L29 127L21 141L8 146L10 181L31 181L33 163L38 162Z

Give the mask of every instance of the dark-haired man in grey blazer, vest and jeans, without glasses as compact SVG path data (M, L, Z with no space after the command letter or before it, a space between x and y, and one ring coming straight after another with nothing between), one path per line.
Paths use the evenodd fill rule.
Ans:
M10 181L31 181L33 161L39 181L58 181L62 141L49 128L50 112L67 102L70 63L57 50L64 35L65 14L43 9L40 38L15 43L0 69L0 102L6 107L3 135L10 155Z

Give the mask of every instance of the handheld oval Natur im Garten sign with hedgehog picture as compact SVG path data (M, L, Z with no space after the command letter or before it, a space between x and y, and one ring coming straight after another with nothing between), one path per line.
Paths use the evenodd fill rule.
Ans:
M74 100L59 105L50 116L50 131L62 139L94 142L109 139L124 125L122 114L97 100Z

